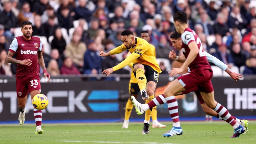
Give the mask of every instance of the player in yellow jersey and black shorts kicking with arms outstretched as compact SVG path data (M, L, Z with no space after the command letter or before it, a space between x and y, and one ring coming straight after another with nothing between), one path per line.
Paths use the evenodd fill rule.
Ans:
M156 61L152 47L146 40L133 36L133 32L129 29L125 29L121 33L121 36L121 40L123 41L121 46L118 46L107 53L100 52L100 56L106 57L112 54L118 54L126 51L127 49L131 54L115 67L105 69L102 74L105 73L106 76L108 76L114 71L124 68L124 66L133 62L132 71L137 79L140 94L142 99L148 103L155 97L154 92L158 81L158 75L162 71ZM144 127L142 130L143 134L149 133L151 112L152 111L150 109L146 111L147 119L144 120Z

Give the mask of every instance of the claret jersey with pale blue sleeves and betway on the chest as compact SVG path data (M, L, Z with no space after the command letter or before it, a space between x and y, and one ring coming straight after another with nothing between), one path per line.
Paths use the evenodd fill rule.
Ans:
M31 36L30 40L26 40L23 36L15 37L9 51L15 53L17 60L32 61L30 66L17 64L16 78L39 76L37 52L42 51L40 38Z

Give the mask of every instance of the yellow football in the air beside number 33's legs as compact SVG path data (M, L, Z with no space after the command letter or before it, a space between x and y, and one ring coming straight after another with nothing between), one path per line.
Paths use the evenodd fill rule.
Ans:
M44 94L37 94L32 99L32 105L38 110L43 110L48 106L48 98Z

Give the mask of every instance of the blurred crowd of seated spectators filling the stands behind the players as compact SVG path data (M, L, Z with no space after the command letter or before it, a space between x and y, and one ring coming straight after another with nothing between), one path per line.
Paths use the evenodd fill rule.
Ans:
M175 30L172 14L185 11L189 27L212 54L243 75L256 74L256 12L250 0L1 0L0 74L12 76L16 65L6 62L7 52L19 35L23 20L33 24L32 36L43 43L47 71L60 74L100 74L125 59L127 52L102 58L120 46L121 32L140 37L148 30L149 43L163 73L182 64L168 58ZM43 39L45 39L43 41ZM130 68L116 71L129 74ZM42 70L41 70L42 71ZM184 71L184 73L186 73Z

